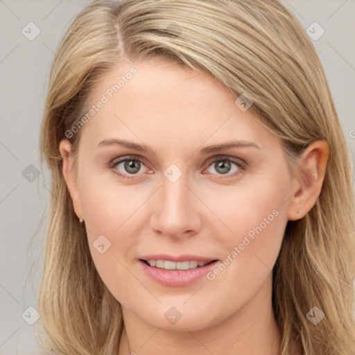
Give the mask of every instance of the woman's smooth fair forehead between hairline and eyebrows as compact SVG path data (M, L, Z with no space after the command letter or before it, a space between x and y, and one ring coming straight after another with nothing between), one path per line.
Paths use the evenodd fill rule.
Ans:
M123 62L94 85L83 140L97 145L121 137L180 149L206 139L209 144L238 138L257 140L259 146L278 144L234 101L234 95L206 73L161 59Z

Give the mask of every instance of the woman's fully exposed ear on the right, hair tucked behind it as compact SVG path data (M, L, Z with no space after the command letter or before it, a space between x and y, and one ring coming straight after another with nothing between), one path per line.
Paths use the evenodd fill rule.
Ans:
M288 220L304 217L320 195L329 158L325 141L313 141L299 158L301 180L294 177L295 193L288 204Z

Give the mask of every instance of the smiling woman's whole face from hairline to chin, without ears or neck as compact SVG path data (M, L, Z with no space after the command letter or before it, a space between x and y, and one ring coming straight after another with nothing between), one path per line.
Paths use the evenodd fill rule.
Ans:
M281 141L214 79L163 60L120 65L90 99L69 189L123 309L193 331L270 297L294 192Z

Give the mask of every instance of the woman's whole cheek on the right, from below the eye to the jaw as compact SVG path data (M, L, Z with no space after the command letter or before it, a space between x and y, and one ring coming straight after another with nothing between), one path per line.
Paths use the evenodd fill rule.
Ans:
M228 228L218 235L223 260L207 278L239 300L248 300L272 272L279 254L288 220L288 185L270 174L262 184L230 191L220 194L214 205Z

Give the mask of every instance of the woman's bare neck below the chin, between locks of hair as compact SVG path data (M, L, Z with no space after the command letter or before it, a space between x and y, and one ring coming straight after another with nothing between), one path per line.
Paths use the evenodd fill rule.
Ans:
M271 282L269 277L259 292L229 318L200 331L157 329L123 308L125 328L119 355L164 354L166 349L171 355L184 355L187 349L196 355L278 355L281 338L272 312Z

